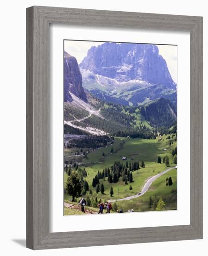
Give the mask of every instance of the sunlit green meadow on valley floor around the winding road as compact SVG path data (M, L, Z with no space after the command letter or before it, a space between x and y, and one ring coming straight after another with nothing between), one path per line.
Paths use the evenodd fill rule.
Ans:
M152 140L116 137L113 145L96 149L91 152L88 154L87 159L82 159L81 167L85 167L87 171L88 175L85 179L89 184L89 189L91 189L93 193L89 194L89 192L87 192L84 197L86 198L89 196L89 198L93 200L97 197L98 200L101 199L101 201L105 202L109 199L117 200L119 198L138 194L148 178L174 166L171 152L176 148L176 141L174 140L174 137L171 139L174 142L170 145L170 140L167 139L167 135L156 137L156 139ZM111 153L112 148L113 153ZM164 148L166 148L167 151L164 151ZM103 153L105 156L103 156ZM163 157L166 155L169 156L170 167L166 167L163 163ZM162 163L157 162L158 156L161 156ZM126 160L122 160L122 157L126 157ZM110 168L115 161L123 163L126 163L126 161L128 163L139 161L139 165L141 164L141 161L144 161L145 168L133 171L133 182L128 182L128 184L122 182L121 177L116 183L109 183L107 178L100 179L100 185L103 183L105 191L104 194L101 194L101 192L96 193L96 188L92 187L93 178L97 174L98 170L102 172L104 168ZM170 176L173 184L171 186L166 186L166 177ZM66 184L66 181L67 175L64 173L64 185ZM134 211L154 210L153 206L150 208L148 205L150 196L153 202L158 202L159 198L162 198L165 202L164 210L176 209L176 182L176 169L172 169L155 180L144 195L132 200L117 201L116 204L118 209L122 208L124 211L127 211L128 209L134 209ZM129 189L130 185L132 186L132 190ZM113 187L114 193L112 197L109 194L111 186ZM71 200L71 196L65 194L64 200L69 202ZM76 214L76 211L77 210L73 209L65 209L66 215Z

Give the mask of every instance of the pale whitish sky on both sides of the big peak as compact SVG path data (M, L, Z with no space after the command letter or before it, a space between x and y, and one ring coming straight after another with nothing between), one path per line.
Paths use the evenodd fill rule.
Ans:
M78 64L87 56L88 49L92 46L101 45L103 42L64 40L64 50L76 57ZM157 45L157 44L156 44ZM170 75L177 83L177 46L157 45L159 54L165 59Z

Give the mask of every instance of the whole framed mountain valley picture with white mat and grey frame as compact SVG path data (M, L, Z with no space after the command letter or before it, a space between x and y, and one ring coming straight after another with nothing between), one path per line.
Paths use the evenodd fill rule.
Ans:
M27 247L202 238L202 17L27 8Z

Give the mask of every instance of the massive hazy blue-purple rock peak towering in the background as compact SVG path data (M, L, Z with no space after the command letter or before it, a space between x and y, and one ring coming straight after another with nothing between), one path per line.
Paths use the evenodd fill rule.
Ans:
M119 82L143 80L176 89L156 45L104 43L91 47L80 67Z

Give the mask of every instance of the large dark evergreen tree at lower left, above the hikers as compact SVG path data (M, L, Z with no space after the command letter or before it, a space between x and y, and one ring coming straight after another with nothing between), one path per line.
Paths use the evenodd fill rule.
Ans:
M67 178L66 193L72 195L72 202L74 202L76 196L80 196L82 192L82 182L79 175L72 171Z

